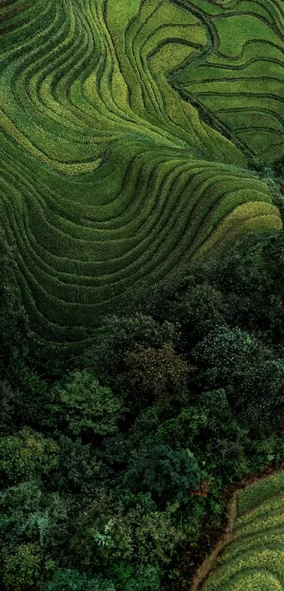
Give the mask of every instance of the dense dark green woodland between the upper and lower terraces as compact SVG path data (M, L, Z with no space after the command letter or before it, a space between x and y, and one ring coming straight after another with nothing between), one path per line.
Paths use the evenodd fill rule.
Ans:
M35 353L0 239L1 588L182 588L226 486L284 457L283 233L140 286L70 360Z

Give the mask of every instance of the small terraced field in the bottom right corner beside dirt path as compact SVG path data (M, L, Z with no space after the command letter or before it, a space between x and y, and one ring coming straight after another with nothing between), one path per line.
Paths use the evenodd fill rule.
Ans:
M284 588L284 472L237 494L233 539L202 591Z

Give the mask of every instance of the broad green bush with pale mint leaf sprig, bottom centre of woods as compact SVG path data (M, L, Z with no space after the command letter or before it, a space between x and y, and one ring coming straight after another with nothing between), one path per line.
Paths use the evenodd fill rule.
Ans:
M125 492L123 484L116 494L97 488L73 519L69 552L74 566L86 572L103 568L121 580L121 569L131 578L129 566L168 562L185 537L173 519L175 509L159 511L149 493Z

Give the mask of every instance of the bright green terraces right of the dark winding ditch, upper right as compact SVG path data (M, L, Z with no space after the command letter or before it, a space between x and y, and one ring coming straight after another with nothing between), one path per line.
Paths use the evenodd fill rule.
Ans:
M171 81L210 111L250 157L273 162L284 149L283 4L228 3L210 20L211 2L194 4L204 11L213 47L173 73Z

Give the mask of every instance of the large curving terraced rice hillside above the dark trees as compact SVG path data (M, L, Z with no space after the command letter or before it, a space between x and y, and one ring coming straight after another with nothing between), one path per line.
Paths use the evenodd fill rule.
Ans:
M0 213L42 342L281 228L247 157L284 154L282 0L0 0L0 34Z

